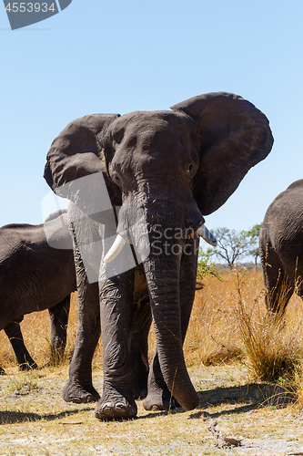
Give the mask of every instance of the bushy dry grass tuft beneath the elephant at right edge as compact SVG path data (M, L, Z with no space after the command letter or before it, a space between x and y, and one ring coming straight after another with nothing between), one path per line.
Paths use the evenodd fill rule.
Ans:
M268 311L264 296L258 296L254 306L247 308L242 293L244 276L238 271L236 274L237 320L247 367L255 378L263 381L293 381L303 354L302 320L295 323L293 316L289 318L282 311ZM285 295L282 292L281 298Z

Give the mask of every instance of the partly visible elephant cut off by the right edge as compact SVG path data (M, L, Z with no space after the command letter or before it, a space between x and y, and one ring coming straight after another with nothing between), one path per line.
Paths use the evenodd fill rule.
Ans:
M268 308L282 316L294 291L303 297L303 180L268 207L259 247Z

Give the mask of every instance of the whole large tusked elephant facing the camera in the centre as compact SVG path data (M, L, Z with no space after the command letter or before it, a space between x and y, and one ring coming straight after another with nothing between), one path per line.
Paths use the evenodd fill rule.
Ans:
M98 419L135 417L137 397L146 396L146 409L167 409L170 392L184 409L197 407L182 347L195 295L195 233L204 223L203 215L227 201L247 171L267 157L272 143L268 119L247 100L227 93L190 98L167 111L86 116L70 123L54 140L45 166L50 187L81 205L85 196L73 193L72 185L68 193L68 182L102 171L113 207L122 204L117 232L127 231L127 217L132 218L127 208L135 206L145 213L150 244L143 264L126 273L104 279L101 261L98 285L88 284L76 248L79 326L64 399L99 399L92 385L91 360L100 334L100 313L104 388L96 405ZM81 243L88 242L96 225L76 227L76 204L69 209L70 221L76 239L81 233ZM163 234L162 254L154 247L159 237L156 225ZM189 227L195 232L191 238L179 239L176 234L166 239L166 228L186 233ZM132 236L137 247L140 239L136 233ZM150 309L157 352L146 389Z

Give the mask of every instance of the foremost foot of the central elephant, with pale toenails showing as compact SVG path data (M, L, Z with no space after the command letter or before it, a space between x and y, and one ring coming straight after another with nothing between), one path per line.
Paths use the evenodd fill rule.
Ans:
M120 392L111 389L96 404L95 415L98 420L132 420L136 417L136 402L127 400Z

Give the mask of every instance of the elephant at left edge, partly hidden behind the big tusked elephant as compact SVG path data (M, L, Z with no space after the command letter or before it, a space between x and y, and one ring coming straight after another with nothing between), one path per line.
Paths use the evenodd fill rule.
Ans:
M64 212L51 214L49 223ZM21 370L37 367L20 329L24 314L48 309L51 357L65 351L70 294L76 290L76 274L67 228L56 241L66 244L66 249L49 246L44 224L9 224L0 228L0 329L9 337Z

